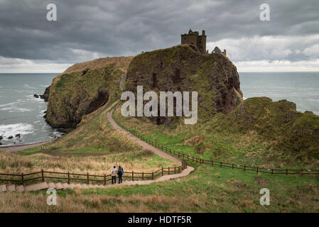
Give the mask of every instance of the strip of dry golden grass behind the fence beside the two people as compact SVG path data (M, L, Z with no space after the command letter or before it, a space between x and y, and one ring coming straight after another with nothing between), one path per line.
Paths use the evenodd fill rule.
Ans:
M175 162L154 155L148 150L112 155L60 156L37 153L34 155L15 155L0 152L0 172L18 173L36 172L41 169L53 172L75 172L93 175L109 174L114 165L121 165L127 172L152 172L161 166L177 166Z

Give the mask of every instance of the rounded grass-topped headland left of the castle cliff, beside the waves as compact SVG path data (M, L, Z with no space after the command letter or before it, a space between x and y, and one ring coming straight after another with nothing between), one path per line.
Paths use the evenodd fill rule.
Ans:
M53 79L45 90L48 109L45 121L54 128L75 128L109 100L120 96L119 81L132 57L106 57L73 65Z

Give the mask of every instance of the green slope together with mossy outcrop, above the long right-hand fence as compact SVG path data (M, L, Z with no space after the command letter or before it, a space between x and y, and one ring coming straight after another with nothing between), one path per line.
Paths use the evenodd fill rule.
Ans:
M149 140L205 159L264 167L318 168L319 116L296 111L286 101L255 97L229 114L217 113L195 125L158 126L148 118L114 118Z

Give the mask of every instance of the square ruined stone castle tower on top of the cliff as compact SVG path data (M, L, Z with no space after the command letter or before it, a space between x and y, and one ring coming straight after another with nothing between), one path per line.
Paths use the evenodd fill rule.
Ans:
M195 45L200 49L200 52L203 54L206 52L206 35L205 30L202 30L202 35L199 35L198 31L188 31L188 34L182 34L181 36L181 44L190 44Z

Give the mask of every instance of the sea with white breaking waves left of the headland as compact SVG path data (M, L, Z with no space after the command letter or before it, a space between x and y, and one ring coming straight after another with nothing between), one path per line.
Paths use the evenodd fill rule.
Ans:
M46 103L33 94L43 94L55 73L0 74L0 135L2 145L37 143L60 137L45 122ZM16 138L16 134L21 134ZM13 139L9 139L13 136Z

